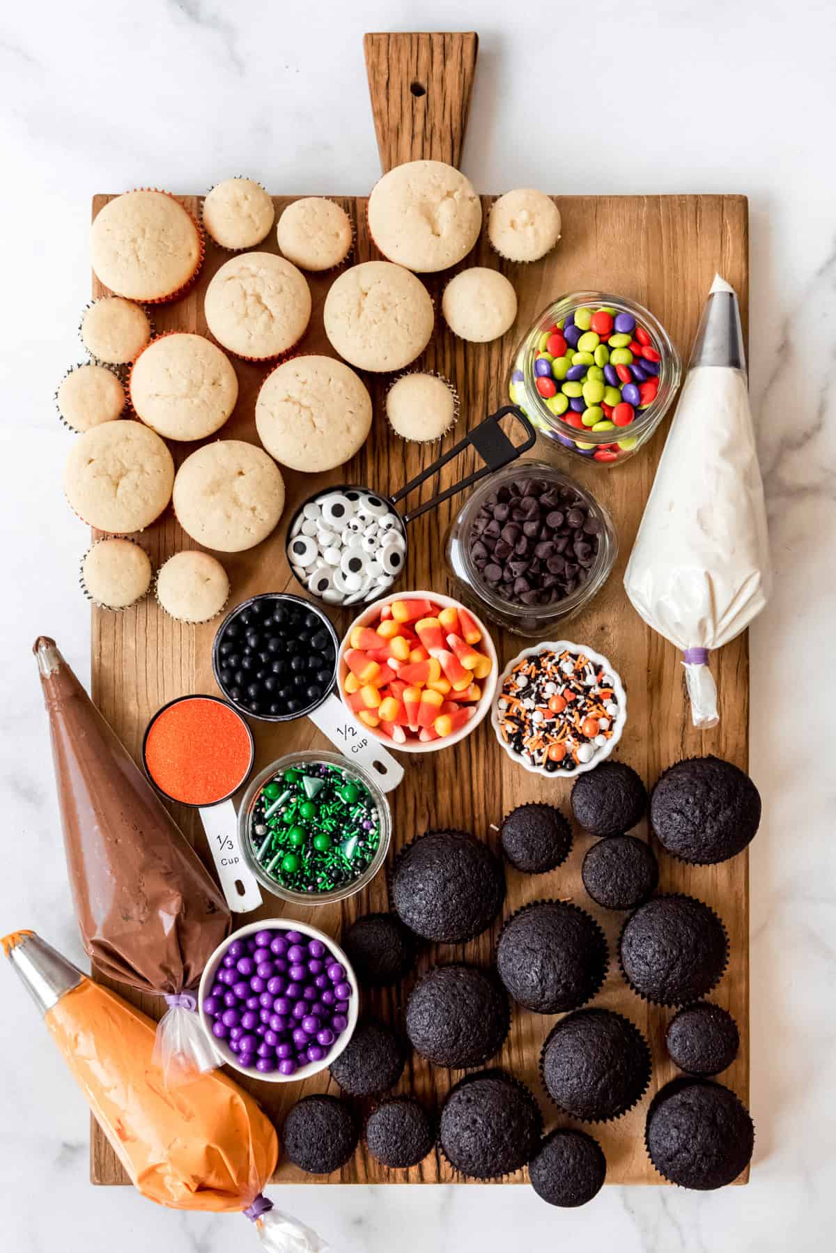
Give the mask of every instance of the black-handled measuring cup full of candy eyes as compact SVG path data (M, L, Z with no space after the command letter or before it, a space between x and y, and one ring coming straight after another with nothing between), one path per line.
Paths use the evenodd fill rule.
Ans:
M500 426L509 416L523 427L521 444L514 444ZM287 560L296 579L318 600L332 605L358 605L385 595L406 565L409 523L501 470L535 440L536 431L525 413L504 405L391 496L353 484L315 492L300 505L288 526ZM475 449L480 469L415 509L399 512L401 500L468 447Z

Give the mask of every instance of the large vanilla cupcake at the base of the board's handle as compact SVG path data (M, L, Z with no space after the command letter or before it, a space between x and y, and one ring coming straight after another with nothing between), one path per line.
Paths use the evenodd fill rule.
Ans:
M368 197L368 229L390 261L419 273L466 257L481 229L481 202L469 179L440 160L396 165Z

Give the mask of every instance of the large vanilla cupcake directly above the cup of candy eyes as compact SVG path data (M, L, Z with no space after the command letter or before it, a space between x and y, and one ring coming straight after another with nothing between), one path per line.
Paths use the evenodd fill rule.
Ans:
M365 444L371 396L342 361L293 357L262 383L256 430L269 455L291 470L333 470Z

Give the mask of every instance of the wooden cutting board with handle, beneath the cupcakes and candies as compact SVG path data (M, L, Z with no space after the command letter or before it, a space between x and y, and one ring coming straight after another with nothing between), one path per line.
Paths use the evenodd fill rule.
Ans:
M367 35L366 63L384 169L404 160L432 157L457 163L461 154L470 89L476 63L476 35ZM570 180L570 179L567 179ZM178 188L174 188L178 192ZM498 188L498 192L506 188ZM97 195L93 214L112 197ZM185 197L193 212L199 198ZM277 216L296 197L277 197ZM356 223L353 259L367 261L377 254L366 229L366 200L335 195ZM485 197L485 213L491 203ZM455 340L439 320L436 333L421 365L451 378L461 395L457 432L445 440L445 447L461 431L505 402L506 382L516 342L535 316L564 292L593 288L618 292L638 299L662 321L679 353L687 360L699 312L714 271L719 271L737 289L743 325L748 297L747 203L739 195L635 195L635 197L559 197L563 238L543 261L514 266L489 248L484 232L465 264L500 268L513 281L519 296L519 317L511 331L489 345L465 345ZM276 251L274 236L263 244ZM203 294L212 274L227 259L209 244L199 282L188 297L154 311L158 331L187 330L207 333ZM444 283L450 274L422 276L440 303ZM331 279L311 277L313 315L301 345L302 352L332 355L322 330L322 303ZM104 288L94 279L94 296ZM257 444L253 421L254 400L264 370L234 362L241 383L237 408L223 430L224 437ZM384 416L385 377L367 376L375 401L375 422L365 449L347 466L331 475L305 476L286 472L288 500L286 519L296 504L328 482L351 481L374 485L381 491L396 490L436 456L436 450L407 445L396 439ZM748 652L746 637L738 638L712 657L721 700L722 720L711 732L698 733L691 725L682 667L677 650L653 634L627 601L622 576L644 501L662 451L667 422L653 440L614 470L568 459L556 447L540 440L538 457L559 464L590 487L609 510L619 538L619 558L603 591L567 626L567 634L610 658L629 694L629 715L617 756L629 762L648 786L673 762L693 754L716 753L746 768L748 756ZM192 445L174 445L178 461ZM454 466L455 470L455 466ZM441 485L452 481L452 472L441 476ZM426 484L435 491L437 485ZM429 514L410 528L409 565L401 586L451 591L442 558L442 538L455 509L455 501ZM154 564L162 563L192 541L174 521L170 510L139 536ZM280 525L258 548L236 555L221 554L232 580L232 600L267 590L300 591L285 560L285 528ZM333 614L337 632L347 625L347 611ZM209 662L217 623L188 628L164 618L153 600L122 614L93 611L93 697L117 733L139 758L145 725L152 714L173 697L192 692L214 693ZM496 632L500 664L505 665L525 640ZM253 723L257 761L261 769L291 749L326 747L326 742L307 720L287 725ZM464 743L425 757L401 757L405 779L391 796L394 812L392 852L417 832L451 824L475 832L494 848L496 824L504 813L525 801L548 801L569 812L568 781L546 781L514 766L499 748L486 720ZM211 865L206 840L193 813L172 807L183 829ZM647 836L645 827L639 833ZM569 897L589 910L604 927L610 947L607 982L595 997L597 1005L619 1010L644 1031L653 1051L653 1081L637 1109L605 1125L593 1128L607 1154L609 1183L661 1183L651 1168L643 1146L644 1115L654 1091L673 1078L676 1069L666 1056L664 1030L672 1016L639 1000L623 982L615 962L615 942L624 916L599 910L587 897L580 882L583 855L590 838L575 832L568 862L550 875L524 876L506 867L508 900L505 913L544 897ZM722 866L689 867L659 856L662 890L689 892L707 901L722 917L731 941L728 970L712 999L734 1015L741 1029L741 1051L734 1065L722 1075L748 1101L748 861L742 853ZM358 913L387 908L386 878L379 875L371 887L343 905L298 910L303 917L338 937ZM261 915L285 913L277 900L268 900ZM293 912L293 911L290 911ZM239 920L252 921L252 916ZM420 974L436 961L471 961L489 966L499 922L490 932L462 946L426 947L420 957ZM395 990L363 994L367 1010L402 1025L404 1007L414 976ZM114 985L115 986L115 985ZM147 1011L158 1014L153 997L132 997ZM157 999L158 1001L158 999ZM496 1059L535 1091L551 1128L567 1123L550 1105L538 1078L540 1046L554 1025L554 1016L540 1016L514 1009L511 1032ZM440 1070L412 1054L397 1091L411 1091L427 1105L440 1106L460 1073ZM277 1085L247 1081L281 1129L283 1113L302 1094L336 1091L327 1071L305 1084ZM362 1113L362 1111L361 1111ZM125 1175L107 1139L93 1124L91 1178L94 1183L124 1183ZM374 1162L362 1144L356 1157L332 1182L342 1183L437 1183L461 1182L431 1154L411 1170L389 1170ZM745 1177L743 1177L745 1178ZM288 1165L280 1164L280 1183L316 1182ZM520 1172L511 1182L524 1182Z

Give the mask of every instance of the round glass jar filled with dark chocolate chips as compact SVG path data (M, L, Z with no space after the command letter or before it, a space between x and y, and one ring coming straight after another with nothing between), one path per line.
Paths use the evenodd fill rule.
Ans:
M518 635L546 635L600 591L618 540L585 487L545 461L516 461L470 496L445 551L462 600Z

